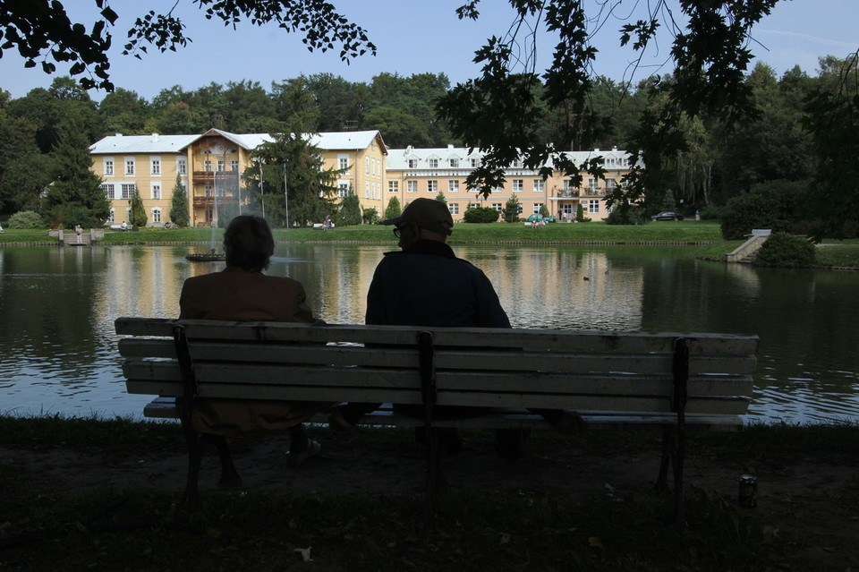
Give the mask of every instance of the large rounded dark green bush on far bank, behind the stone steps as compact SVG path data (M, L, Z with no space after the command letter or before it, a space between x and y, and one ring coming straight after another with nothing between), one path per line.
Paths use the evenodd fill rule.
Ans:
M751 192L727 202L721 218L725 240L743 238L753 228L769 228L773 232L789 232L803 217L807 208L804 182L770 181L756 184Z

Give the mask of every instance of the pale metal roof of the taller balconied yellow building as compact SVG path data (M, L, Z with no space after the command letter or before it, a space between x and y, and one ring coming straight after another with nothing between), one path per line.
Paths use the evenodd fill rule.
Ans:
M181 153L191 143L206 135L220 135L228 141L248 150L256 149L261 143L274 141L269 133L231 133L220 129L210 129L200 135L123 135L117 133L105 137L89 146L93 154L123 153ZM348 131L308 134L310 143L319 149L367 149L373 140L378 142L383 153L387 153L385 142L378 130Z

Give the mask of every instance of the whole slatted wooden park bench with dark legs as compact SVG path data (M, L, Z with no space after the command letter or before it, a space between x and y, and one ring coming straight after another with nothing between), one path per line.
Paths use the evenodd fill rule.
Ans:
M206 397L395 403L361 423L549 429L527 408L574 410L588 430L663 431L658 487L673 468L683 518L685 431L739 431L752 395L758 338L727 334L418 328L119 318L129 393L156 396L148 417L178 417L189 449L186 499L197 498L200 436L187 404ZM486 414L436 419L435 406ZM318 420L324 422L324 415ZM312 420L311 420L312 421ZM426 506L441 475L427 448ZM222 463L229 463L222 456Z

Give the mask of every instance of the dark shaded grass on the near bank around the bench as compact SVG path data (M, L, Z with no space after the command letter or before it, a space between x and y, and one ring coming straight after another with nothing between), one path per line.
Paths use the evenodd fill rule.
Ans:
M740 434L694 435L689 450L713 465L736 463L742 451L761 465L799 458L826 466L843 457L855 463L855 433L848 425L753 426ZM356 447L384 450L408 438L403 431L365 437ZM651 447L653 435L597 431L570 439L532 436L538 448L573 446L609 457ZM105 484L92 474L98 486L69 491L64 475L13 461L28 452L30 458L98 455L115 464L119 457L183 450L175 425L0 417L0 446L3 569L811 569L805 552L815 542L810 534L778 530L761 511L694 488L687 490L684 528L665 518L665 499L620 491L456 491L441 496L439 517L430 523L421 518L420 494L207 491L200 510L190 512L174 504L175 494L155 488ZM831 502L859 506L857 488L831 491ZM820 511L797 519L828 517ZM305 562L296 551L308 547L312 560Z

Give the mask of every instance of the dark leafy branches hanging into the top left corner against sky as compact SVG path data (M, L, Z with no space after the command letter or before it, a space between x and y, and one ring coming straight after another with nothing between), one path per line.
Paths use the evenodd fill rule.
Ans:
M28 0L13 2L0 0L0 29L3 30L4 43L0 45L0 57L4 49L16 47L18 53L26 58L26 67L35 67L41 58L42 70L54 73L54 62L72 62L69 73L81 76L84 88L98 87L111 91L114 84L110 81L110 61L107 49L113 41L111 28L119 14L107 5L106 0L95 0L101 10L100 17L92 25L72 24L61 0ZM366 52L376 53L376 47L367 38L360 26L346 20L336 13L335 7L327 2L316 0L248 0L246 2L218 2L217 0L197 0L200 10L205 10L208 20L220 20L225 25L235 26L242 20L262 26L274 22L287 32L298 31L311 52L322 52L340 47L340 59L350 59ZM131 19L131 18L129 18ZM173 11L163 14L149 11L137 18L134 25L121 37L127 37L123 55L140 58L148 51L148 45L160 52L175 51L184 47L191 38L184 35L185 25L173 15Z

